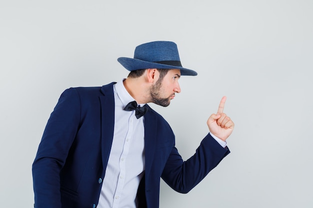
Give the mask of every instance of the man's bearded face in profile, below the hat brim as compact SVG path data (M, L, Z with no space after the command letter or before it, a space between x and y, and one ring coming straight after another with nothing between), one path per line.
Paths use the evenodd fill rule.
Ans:
M168 106L175 93L180 92L179 77L179 69L170 69L162 80L158 79L150 88L152 102L163 107Z

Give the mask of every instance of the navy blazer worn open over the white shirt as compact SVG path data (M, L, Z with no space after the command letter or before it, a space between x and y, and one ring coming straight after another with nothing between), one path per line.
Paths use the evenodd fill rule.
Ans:
M32 165L36 208L96 207L113 139L113 84L61 94ZM158 208L160 178L187 193L229 153L208 134L183 161L170 126L150 107L144 115L144 147L139 208Z

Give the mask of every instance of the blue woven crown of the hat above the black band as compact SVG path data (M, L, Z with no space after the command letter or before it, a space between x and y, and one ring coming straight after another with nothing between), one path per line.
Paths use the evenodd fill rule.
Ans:
M133 58L149 62L180 61L177 45L170 41L154 41L138 45Z

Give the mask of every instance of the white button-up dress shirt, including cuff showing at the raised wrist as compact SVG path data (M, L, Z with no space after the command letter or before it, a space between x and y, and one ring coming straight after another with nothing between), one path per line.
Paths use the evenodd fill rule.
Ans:
M134 99L123 85L114 87L114 133L97 208L136 208L136 194L144 172L144 116L123 108ZM143 106L144 104L139 104ZM226 142L211 136L222 146Z

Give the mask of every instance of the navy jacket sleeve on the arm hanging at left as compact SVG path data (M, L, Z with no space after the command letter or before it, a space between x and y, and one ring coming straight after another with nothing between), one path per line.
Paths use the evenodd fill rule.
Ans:
M76 89L65 90L48 119L32 164L35 208L61 208L60 170L75 138L80 120Z

